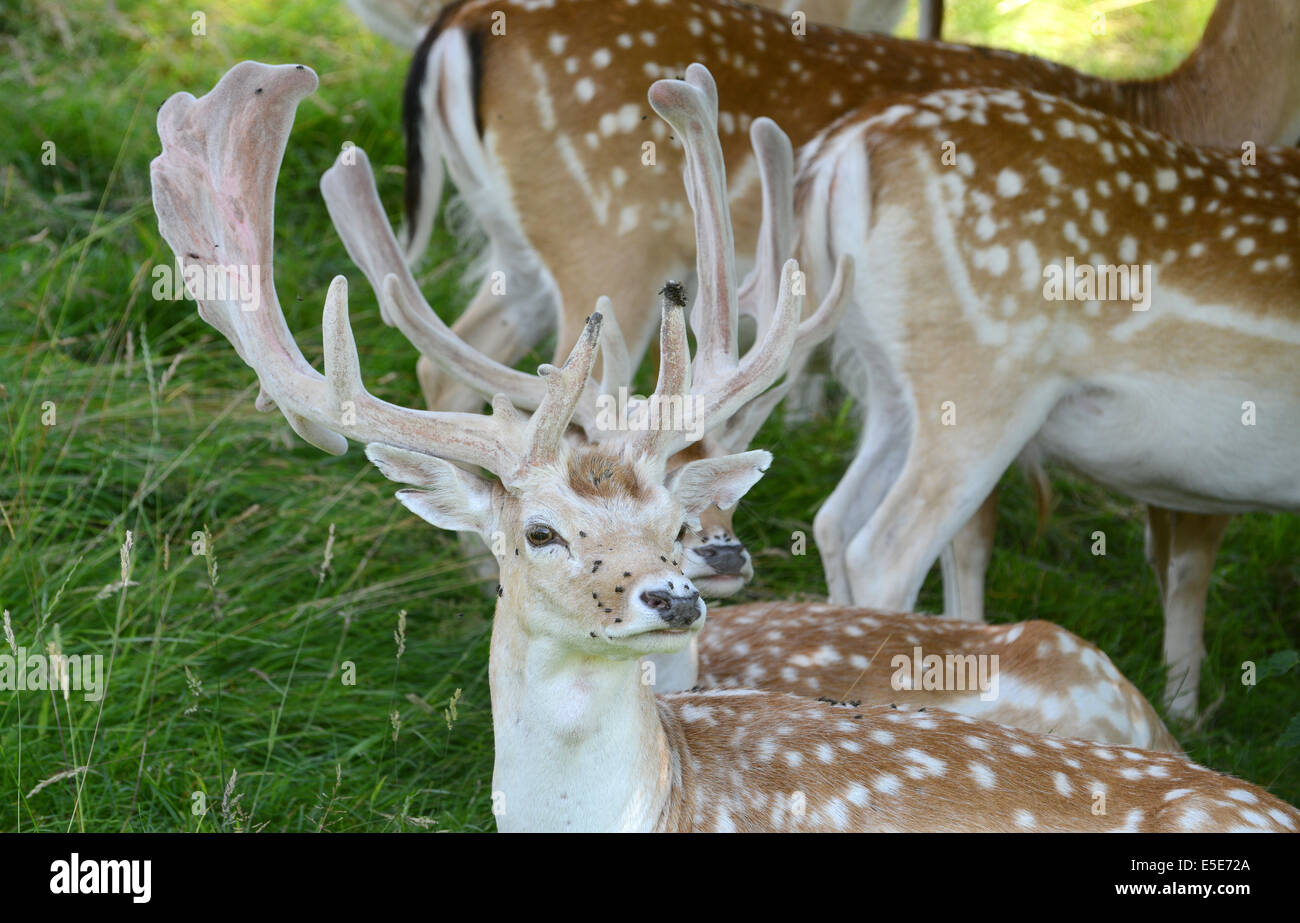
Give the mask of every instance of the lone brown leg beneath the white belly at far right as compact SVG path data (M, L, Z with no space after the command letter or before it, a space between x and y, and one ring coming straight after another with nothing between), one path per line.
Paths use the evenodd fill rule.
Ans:
M1154 512L1154 510L1149 511ZM1223 532L1231 516L1165 512L1165 701L1182 720L1196 716L1201 660L1205 658L1205 597Z

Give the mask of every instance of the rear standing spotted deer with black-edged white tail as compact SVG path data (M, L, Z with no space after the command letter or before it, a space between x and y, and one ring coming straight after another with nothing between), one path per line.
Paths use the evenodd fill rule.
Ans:
M493 16L506 16L506 35ZM680 153L662 122L641 130L642 81L699 61L731 108L720 117L737 243L758 234L757 166L742 135L762 112L802 146L870 100L952 86L1023 86L1200 144L1240 148L1300 140L1300 3L1219 0L1196 51L1152 81L1087 77L1011 52L857 35L712 0L663 6L558 0L521 8L465 3L425 32L404 92L407 186L403 243L415 263L430 239L443 169L488 237L482 282L452 324L486 355L512 364L549 330L556 361L586 307L610 294L636 363L656 317L640 292L689 265L689 216L663 183ZM523 77L521 77L523 75ZM520 92L520 81L530 92ZM656 160L642 164L645 144ZM556 166L559 165L559 166ZM666 190L668 190L666 192ZM599 229L601 246L575 228ZM593 254L601 254L593 260ZM790 370L792 385L798 367ZM429 355L417 363L426 406L480 406L474 390ZM1028 468L1045 515L1045 474ZM855 472L861 473L861 472ZM1205 592L1227 519L1149 507L1148 560L1171 623L1204 619ZM978 507L941 555L944 612L984 620L997 498ZM1176 564L1175 564L1176 562ZM833 601L850 597L842 581ZM1188 699L1178 712L1188 716Z

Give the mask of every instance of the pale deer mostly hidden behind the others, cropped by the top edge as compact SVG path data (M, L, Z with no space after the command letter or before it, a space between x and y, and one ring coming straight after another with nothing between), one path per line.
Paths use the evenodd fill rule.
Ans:
M365 27L389 42L415 51L425 29L437 20L443 0L346 0ZM907 0L754 0L755 6L802 13L807 22L840 26L859 32L892 32L907 9ZM942 0L920 0L918 32L937 39L942 29Z

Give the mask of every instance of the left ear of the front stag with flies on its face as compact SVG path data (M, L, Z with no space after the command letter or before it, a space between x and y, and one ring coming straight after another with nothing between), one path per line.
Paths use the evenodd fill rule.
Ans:
M491 533L491 481L433 455L377 442L365 447L365 458L390 481L424 488L399 490L398 502L425 523L452 532Z

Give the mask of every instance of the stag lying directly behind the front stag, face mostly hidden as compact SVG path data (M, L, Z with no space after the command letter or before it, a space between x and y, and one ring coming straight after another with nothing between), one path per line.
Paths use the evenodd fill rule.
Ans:
M685 83L656 83L651 104L681 139L688 162L688 200L696 209L697 239L701 242L697 254L701 299L692 318L697 325L707 325L697 328L697 338L702 343L729 343L722 361L706 364L697 356L690 376L690 395L701 399L710 385L716 387L720 381L731 378L740 365L733 334L738 321L734 316L753 315L755 328L764 339L776 320L771 308L777 300L779 276L771 270L793 246L792 148L775 124L766 118L755 120L751 139L759 164L763 220L755 273L737 287L734 269L722 250L729 246L727 242L733 234L718 142L718 98L712 78L705 68L692 65L686 69ZM481 394L503 393L515 406L526 410L541 404L545 391L537 389L536 377L499 365L474 351L456 338L424 300L402 260L364 151L351 148L341 153L321 178L321 192L348 255L372 287L381 292L381 312L386 322L396 326L422 355L433 358L441 368ZM760 285L764 280L776 281L777 287L764 289ZM835 326L842 312L841 302L849 280L852 276L841 272L822 308L800 326L793 347L796 354L806 354ZM710 300L703 300L703 292L711 292ZM607 300L598 307L603 316L610 316ZM616 328L614 333L618 358L604 364L606 377L599 389L604 394L610 391L611 369L619 369L614 372L615 378L625 374ZM602 341L608 342L604 333ZM784 384L764 391L724 424L719 438L701 439L679 450L667 465L670 478L685 462L727 454L723 445L731 451L748 448L762 417L783 394ZM578 421L576 429L584 439L610 445L627 438L625 432L607 432L593 425L594 417L593 395L584 393L573 411L573 419ZM697 451L693 452L693 448ZM729 511L714 507L702 512L701 519L710 514L723 514L729 523ZM715 571L694 566L686 542L682 545L685 576L705 595L724 595L718 590L731 589L731 585L720 586ZM742 582L734 577L729 580L732 584ZM975 664L979 658L994 653L1000 663L997 690L989 696L987 688L966 680L942 689L897 685L885 664L900 656L910 660L922 642L924 651L945 663L956 658L957 663ZM690 689L703 680L711 686L749 686L814 697L835 694L871 705L906 702L945 707L1043 733L1178 751L1176 741L1158 715L1109 658L1087 641L1049 623L994 628L842 607L788 603L742 606L718 610L710 616L708 629L692 638L684 650L651 659L655 662L653 685L656 692ZM870 670L872 663L875 670Z

